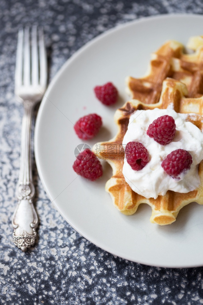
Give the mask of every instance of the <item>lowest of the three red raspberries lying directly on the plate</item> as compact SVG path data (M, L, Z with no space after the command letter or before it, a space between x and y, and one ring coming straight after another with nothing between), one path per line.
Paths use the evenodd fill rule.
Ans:
M73 170L91 181L97 180L103 174L102 164L90 149L85 149L77 156Z

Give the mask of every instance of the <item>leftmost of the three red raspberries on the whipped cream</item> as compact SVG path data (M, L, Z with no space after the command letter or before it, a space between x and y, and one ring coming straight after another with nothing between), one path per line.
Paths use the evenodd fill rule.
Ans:
M127 163L133 170L141 170L149 162L148 150L140 142L128 142L125 155Z

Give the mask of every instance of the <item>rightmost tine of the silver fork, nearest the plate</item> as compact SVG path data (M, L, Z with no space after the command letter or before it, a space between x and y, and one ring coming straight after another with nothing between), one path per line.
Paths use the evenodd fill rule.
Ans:
M40 85L46 87L47 84L47 60L43 29L38 30L39 34L39 67L40 67Z

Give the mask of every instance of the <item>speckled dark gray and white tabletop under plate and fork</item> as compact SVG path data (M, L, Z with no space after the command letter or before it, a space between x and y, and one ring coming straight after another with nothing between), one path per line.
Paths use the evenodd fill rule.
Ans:
M39 239L23 253L12 242L22 106L14 98L16 38L43 25L50 79L93 37L129 20L162 13L203 13L200 0L0 0L0 303L202 304L203 267L168 269L115 257L88 242L50 203L36 166ZM37 114L37 109L35 111Z

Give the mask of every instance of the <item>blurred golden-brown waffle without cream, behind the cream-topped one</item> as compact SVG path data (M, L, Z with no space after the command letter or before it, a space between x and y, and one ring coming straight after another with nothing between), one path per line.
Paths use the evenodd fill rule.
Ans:
M184 54L184 46L170 40L152 53L147 75L143 78L126 79L131 98L146 104L157 103L166 77L186 84L188 97L203 95L203 36L191 37L187 49L194 52Z

